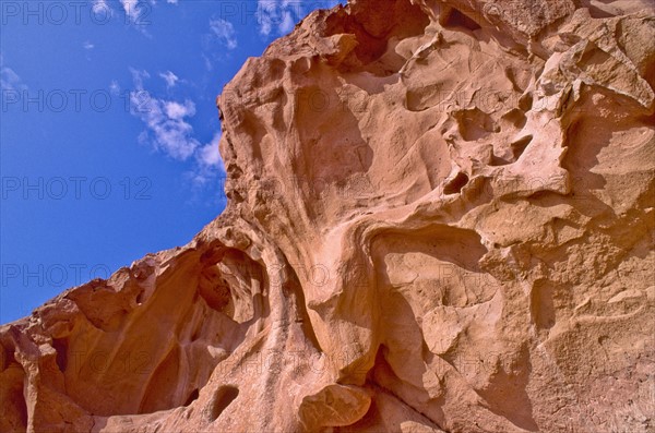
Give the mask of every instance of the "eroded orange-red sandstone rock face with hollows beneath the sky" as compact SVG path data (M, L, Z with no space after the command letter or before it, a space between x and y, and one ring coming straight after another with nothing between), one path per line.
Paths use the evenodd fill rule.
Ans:
M2 432L652 432L650 0L356 0L218 98L227 209L0 328Z

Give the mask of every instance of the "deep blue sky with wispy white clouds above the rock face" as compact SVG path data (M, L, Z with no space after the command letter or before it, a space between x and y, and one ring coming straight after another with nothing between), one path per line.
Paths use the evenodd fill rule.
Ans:
M0 323L225 206L215 97L337 0L0 0Z

